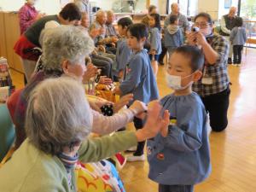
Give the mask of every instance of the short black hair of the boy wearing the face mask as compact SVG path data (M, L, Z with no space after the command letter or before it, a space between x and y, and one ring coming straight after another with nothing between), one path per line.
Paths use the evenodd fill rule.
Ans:
M189 58L192 72L202 70L205 63L205 57L201 49L191 45L183 45L175 49L174 53L181 54L185 58Z

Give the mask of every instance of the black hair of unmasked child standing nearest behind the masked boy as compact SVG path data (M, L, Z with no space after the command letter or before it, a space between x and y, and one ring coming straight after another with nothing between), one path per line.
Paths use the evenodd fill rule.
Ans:
M136 23L129 26L128 31L131 33L131 36L141 40L142 38L148 38L148 27L143 23Z

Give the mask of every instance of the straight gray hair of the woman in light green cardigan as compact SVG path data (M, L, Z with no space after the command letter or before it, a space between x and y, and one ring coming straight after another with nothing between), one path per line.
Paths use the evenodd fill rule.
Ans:
M72 148L90 133L92 113L78 81L46 79L32 90L26 110L26 135L47 154Z

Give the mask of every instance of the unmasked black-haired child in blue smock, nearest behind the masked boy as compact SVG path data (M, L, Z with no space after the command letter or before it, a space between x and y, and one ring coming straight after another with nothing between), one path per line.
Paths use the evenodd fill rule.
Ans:
M148 52L143 46L148 37L148 28L142 23L131 25L128 29L127 44L133 53L126 65L123 82L115 89L120 96L128 93L133 94L133 101L138 100L148 103L159 98L157 84L154 73L148 57ZM131 106L131 101L129 106ZM143 120L134 118L136 129L143 127ZM138 143L137 151L130 157L128 161L145 160L143 154L145 142Z

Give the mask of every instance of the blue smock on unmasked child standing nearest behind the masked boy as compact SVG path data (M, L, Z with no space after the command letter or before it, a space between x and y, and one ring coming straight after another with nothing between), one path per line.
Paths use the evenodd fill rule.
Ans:
M124 81L120 84L119 89L122 91L122 95L132 93L134 100L145 103L159 98L157 84L146 49L132 53L125 69ZM131 105L132 102L129 104Z

